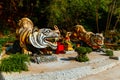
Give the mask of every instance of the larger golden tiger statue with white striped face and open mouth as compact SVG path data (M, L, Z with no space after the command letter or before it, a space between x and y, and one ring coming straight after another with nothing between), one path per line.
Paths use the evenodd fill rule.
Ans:
M20 42L19 44L23 53L29 53L26 46L27 44L37 49L46 47L51 47L52 49L57 48L56 41L59 39L60 34L58 31L56 32L56 29L37 29L34 27L33 22L26 17L19 20L18 26L19 27L16 29L16 36Z

